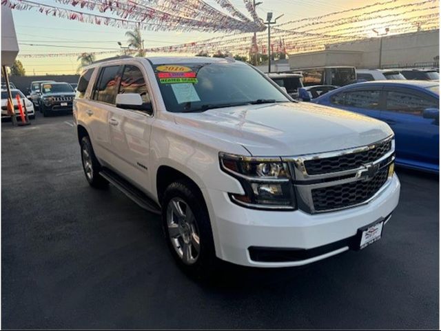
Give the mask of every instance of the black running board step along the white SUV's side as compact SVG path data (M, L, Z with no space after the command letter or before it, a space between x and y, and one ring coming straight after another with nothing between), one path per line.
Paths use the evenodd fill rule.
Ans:
M119 174L116 174L109 169L103 169L99 174L127 195L127 197L132 199L141 208L153 212L154 214L161 214L161 207L159 207L157 203L147 197L147 195L141 192L141 190L135 188L134 185L123 179L123 177L119 176Z

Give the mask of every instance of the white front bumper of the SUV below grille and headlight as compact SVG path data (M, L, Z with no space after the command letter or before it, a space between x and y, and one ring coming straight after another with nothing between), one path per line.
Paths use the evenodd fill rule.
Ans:
M216 256L238 265L274 268L305 265L349 250L359 228L379 219L389 221L398 205L400 181L393 174L387 186L369 203L322 214L252 210L232 203L225 192L203 189L203 194L212 222ZM347 245L331 245L345 240ZM320 250L326 245L329 250ZM254 248L315 249L320 254L305 254L305 259L296 261L267 262L256 261Z

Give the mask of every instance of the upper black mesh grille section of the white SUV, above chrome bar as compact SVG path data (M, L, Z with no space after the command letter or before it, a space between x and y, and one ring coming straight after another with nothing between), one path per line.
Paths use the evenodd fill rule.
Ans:
M311 159L305 161L305 168L308 174L328 174L329 172L356 169L364 164L380 159L380 157L391 150L391 147L391 141L389 140L363 152L328 157L326 159Z

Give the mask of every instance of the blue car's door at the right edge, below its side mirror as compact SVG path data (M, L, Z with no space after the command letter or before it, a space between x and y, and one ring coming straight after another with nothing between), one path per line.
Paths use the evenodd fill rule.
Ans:
M386 106L382 120L396 135L398 161L402 163L438 163L439 123L424 119L426 108L439 108L439 99L411 88L384 88Z

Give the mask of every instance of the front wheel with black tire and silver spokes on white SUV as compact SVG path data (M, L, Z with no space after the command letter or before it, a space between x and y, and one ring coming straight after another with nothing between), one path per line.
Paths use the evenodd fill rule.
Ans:
M187 220L187 217L182 217L183 215L178 217L180 213L176 212L175 203L178 203L178 209L182 212L185 210L185 216L189 215L187 208L190 208L191 214L194 216L193 221L189 221L185 226L179 225L178 219ZM209 221L207 206L194 183L180 180L167 187L162 201L162 219L165 240L179 267L192 277L211 279L220 266L220 260L216 257L214 250L212 225ZM195 232L198 232L198 248L195 244L197 242L194 236ZM189 243L185 243L185 241L189 241ZM190 246L189 250L186 249L188 245ZM180 250L182 250L182 254ZM184 250L187 252L187 257L190 255L192 259L185 258Z

